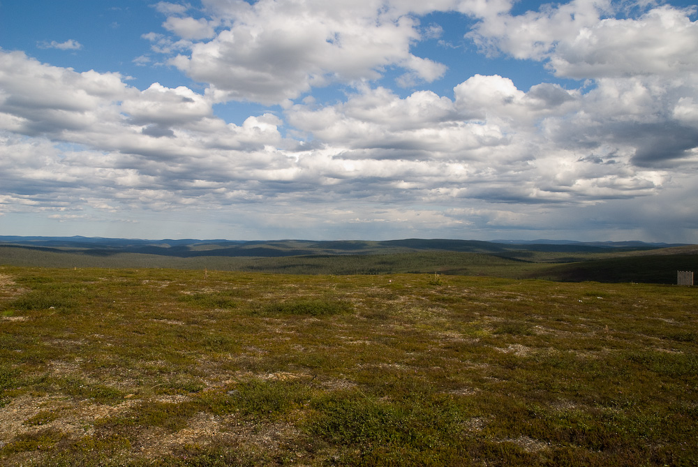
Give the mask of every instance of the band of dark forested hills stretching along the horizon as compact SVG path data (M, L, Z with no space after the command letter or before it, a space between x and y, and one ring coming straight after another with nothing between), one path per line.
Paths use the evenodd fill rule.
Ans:
M677 270L698 271L698 246L551 240L231 241L0 236L0 265L207 268L286 274L436 272L553 281L675 283Z

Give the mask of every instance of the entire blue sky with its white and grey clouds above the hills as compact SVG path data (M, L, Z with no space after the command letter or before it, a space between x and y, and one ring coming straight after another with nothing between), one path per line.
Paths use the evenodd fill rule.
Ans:
M690 1L0 0L0 235L698 243Z

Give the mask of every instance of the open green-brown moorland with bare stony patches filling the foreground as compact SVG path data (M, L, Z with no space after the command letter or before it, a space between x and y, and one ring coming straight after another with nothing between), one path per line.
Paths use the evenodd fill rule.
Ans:
M0 267L3 466L698 464L696 288L65 266Z

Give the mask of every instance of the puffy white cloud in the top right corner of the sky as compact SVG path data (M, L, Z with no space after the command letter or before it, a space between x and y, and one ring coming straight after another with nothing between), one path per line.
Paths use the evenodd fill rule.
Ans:
M574 0L523 15L480 13L466 36L489 54L547 61L560 77L695 72L698 22L690 20L692 10L659 6L635 18L608 17L618 7L608 0Z

